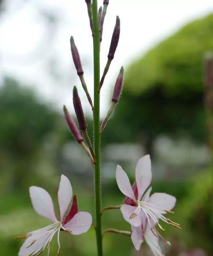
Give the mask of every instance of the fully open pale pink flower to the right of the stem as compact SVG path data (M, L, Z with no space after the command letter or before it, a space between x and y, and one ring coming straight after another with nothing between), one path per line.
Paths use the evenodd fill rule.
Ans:
M150 187L147 190L152 180L151 160L149 155L142 157L138 161L135 169L136 182L132 187L126 172L124 172L119 165L116 169L116 180L121 192L127 196L124 200L124 204L121 206L121 212L124 219L132 226L141 226L142 219L145 218L147 219L148 226L155 234L155 225L161 230L164 230L158 223L159 219L181 229L179 224L163 215L168 212L173 213L171 209L173 209L176 204L176 198L166 193L154 193L150 196L152 188Z

